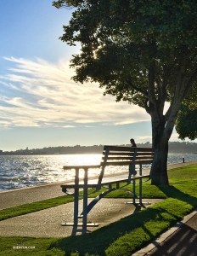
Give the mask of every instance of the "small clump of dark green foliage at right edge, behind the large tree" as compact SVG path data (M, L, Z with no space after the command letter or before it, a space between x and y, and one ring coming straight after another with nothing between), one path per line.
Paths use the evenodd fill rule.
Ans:
M179 138L190 140L197 138L197 108L190 109L188 105L182 104L175 125Z

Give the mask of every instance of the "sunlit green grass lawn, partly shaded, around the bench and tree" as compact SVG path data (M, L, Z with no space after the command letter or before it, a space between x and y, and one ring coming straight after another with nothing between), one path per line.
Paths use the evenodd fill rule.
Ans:
M65 238L0 236L0 255L131 255L197 207L197 165L172 169L168 172L168 176L170 186L153 186L150 182L144 183L144 198L165 200L141 212L135 212L127 218L121 218L113 224L83 236ZM125 196L128 196L127 193L121 190L115 190L108 195L108 197ZM66 195L53 201L12 207L0 211L0 218L11 218L28 211L39 211L43 207L53 207L66 201L72 201L72 198Z

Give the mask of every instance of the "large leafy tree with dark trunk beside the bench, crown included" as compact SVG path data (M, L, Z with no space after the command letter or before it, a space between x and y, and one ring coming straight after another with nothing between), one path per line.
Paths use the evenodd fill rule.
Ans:
M151 116L152 184L168 184L168 141L184 99L197 92L196 0L59 0L73 8L60 38L81 44L76 82L98 82ZM170 107L164 113L165 102Z

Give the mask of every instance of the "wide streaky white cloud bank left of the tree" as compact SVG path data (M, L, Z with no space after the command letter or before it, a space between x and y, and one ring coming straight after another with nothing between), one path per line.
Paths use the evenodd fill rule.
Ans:
M6 58L14 63L0 77L0 126L64 126L101 122L122 125L149 120L143 108L103 96L98 84L70 80L69 62Z

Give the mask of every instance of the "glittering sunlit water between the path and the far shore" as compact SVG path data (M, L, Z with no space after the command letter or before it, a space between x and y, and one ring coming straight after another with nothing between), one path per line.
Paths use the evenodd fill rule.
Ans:
M197 154L184 154L185 161L197 160ZM0 156L0 191L25 188L44 183L71 180L73 170L63 170L66 165L99 165L100 154L52 154ZM183 162L183 154L169 154L168 163ZM108 167L106 173L124 172L127 167ZM92 169L89 176L98 175ZM82 173L80 174L82 177Z

